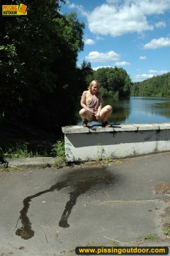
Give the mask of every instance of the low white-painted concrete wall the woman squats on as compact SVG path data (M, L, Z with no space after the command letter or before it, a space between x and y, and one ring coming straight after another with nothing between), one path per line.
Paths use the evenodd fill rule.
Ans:
M67 161L118 159L170 150L170 123L62 127Z

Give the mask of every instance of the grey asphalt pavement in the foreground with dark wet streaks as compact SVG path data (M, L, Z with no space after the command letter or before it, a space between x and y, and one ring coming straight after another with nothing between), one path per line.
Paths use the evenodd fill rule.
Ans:
M0 255L170 246L170 152L60 169L27 160L0 172Z

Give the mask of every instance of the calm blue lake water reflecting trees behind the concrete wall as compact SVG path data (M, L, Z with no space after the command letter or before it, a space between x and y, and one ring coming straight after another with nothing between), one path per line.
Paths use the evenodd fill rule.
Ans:
M170 97L103 98L102 106L106 105L113 107L108 119L111 124L170 122ZM80 105L78 109L81 110ZM82 124L80 117L77 124ZM89 124L101 124L101 122L89 122Z

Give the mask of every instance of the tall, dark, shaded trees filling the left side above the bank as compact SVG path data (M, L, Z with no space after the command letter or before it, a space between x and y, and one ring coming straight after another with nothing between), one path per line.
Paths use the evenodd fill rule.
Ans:
M20 118L55 129L73 122L74 102L91 73L85 61L77 68L84 23L76 13L60 14L59 1L25 2L27 16L0 17L0 119Z

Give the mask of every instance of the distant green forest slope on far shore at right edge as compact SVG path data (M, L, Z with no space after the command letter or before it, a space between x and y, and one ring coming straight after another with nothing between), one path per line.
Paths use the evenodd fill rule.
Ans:
M131 96L170 97L170 73L157 75L142 82L134 82Z

